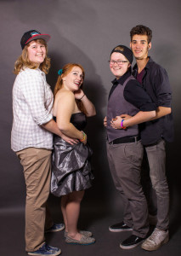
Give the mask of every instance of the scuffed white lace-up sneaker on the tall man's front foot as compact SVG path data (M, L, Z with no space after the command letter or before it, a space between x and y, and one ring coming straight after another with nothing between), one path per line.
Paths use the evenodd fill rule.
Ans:
M169 240L168 230L155 229L151 236L149 236L141 245L146 251L155 251Z

